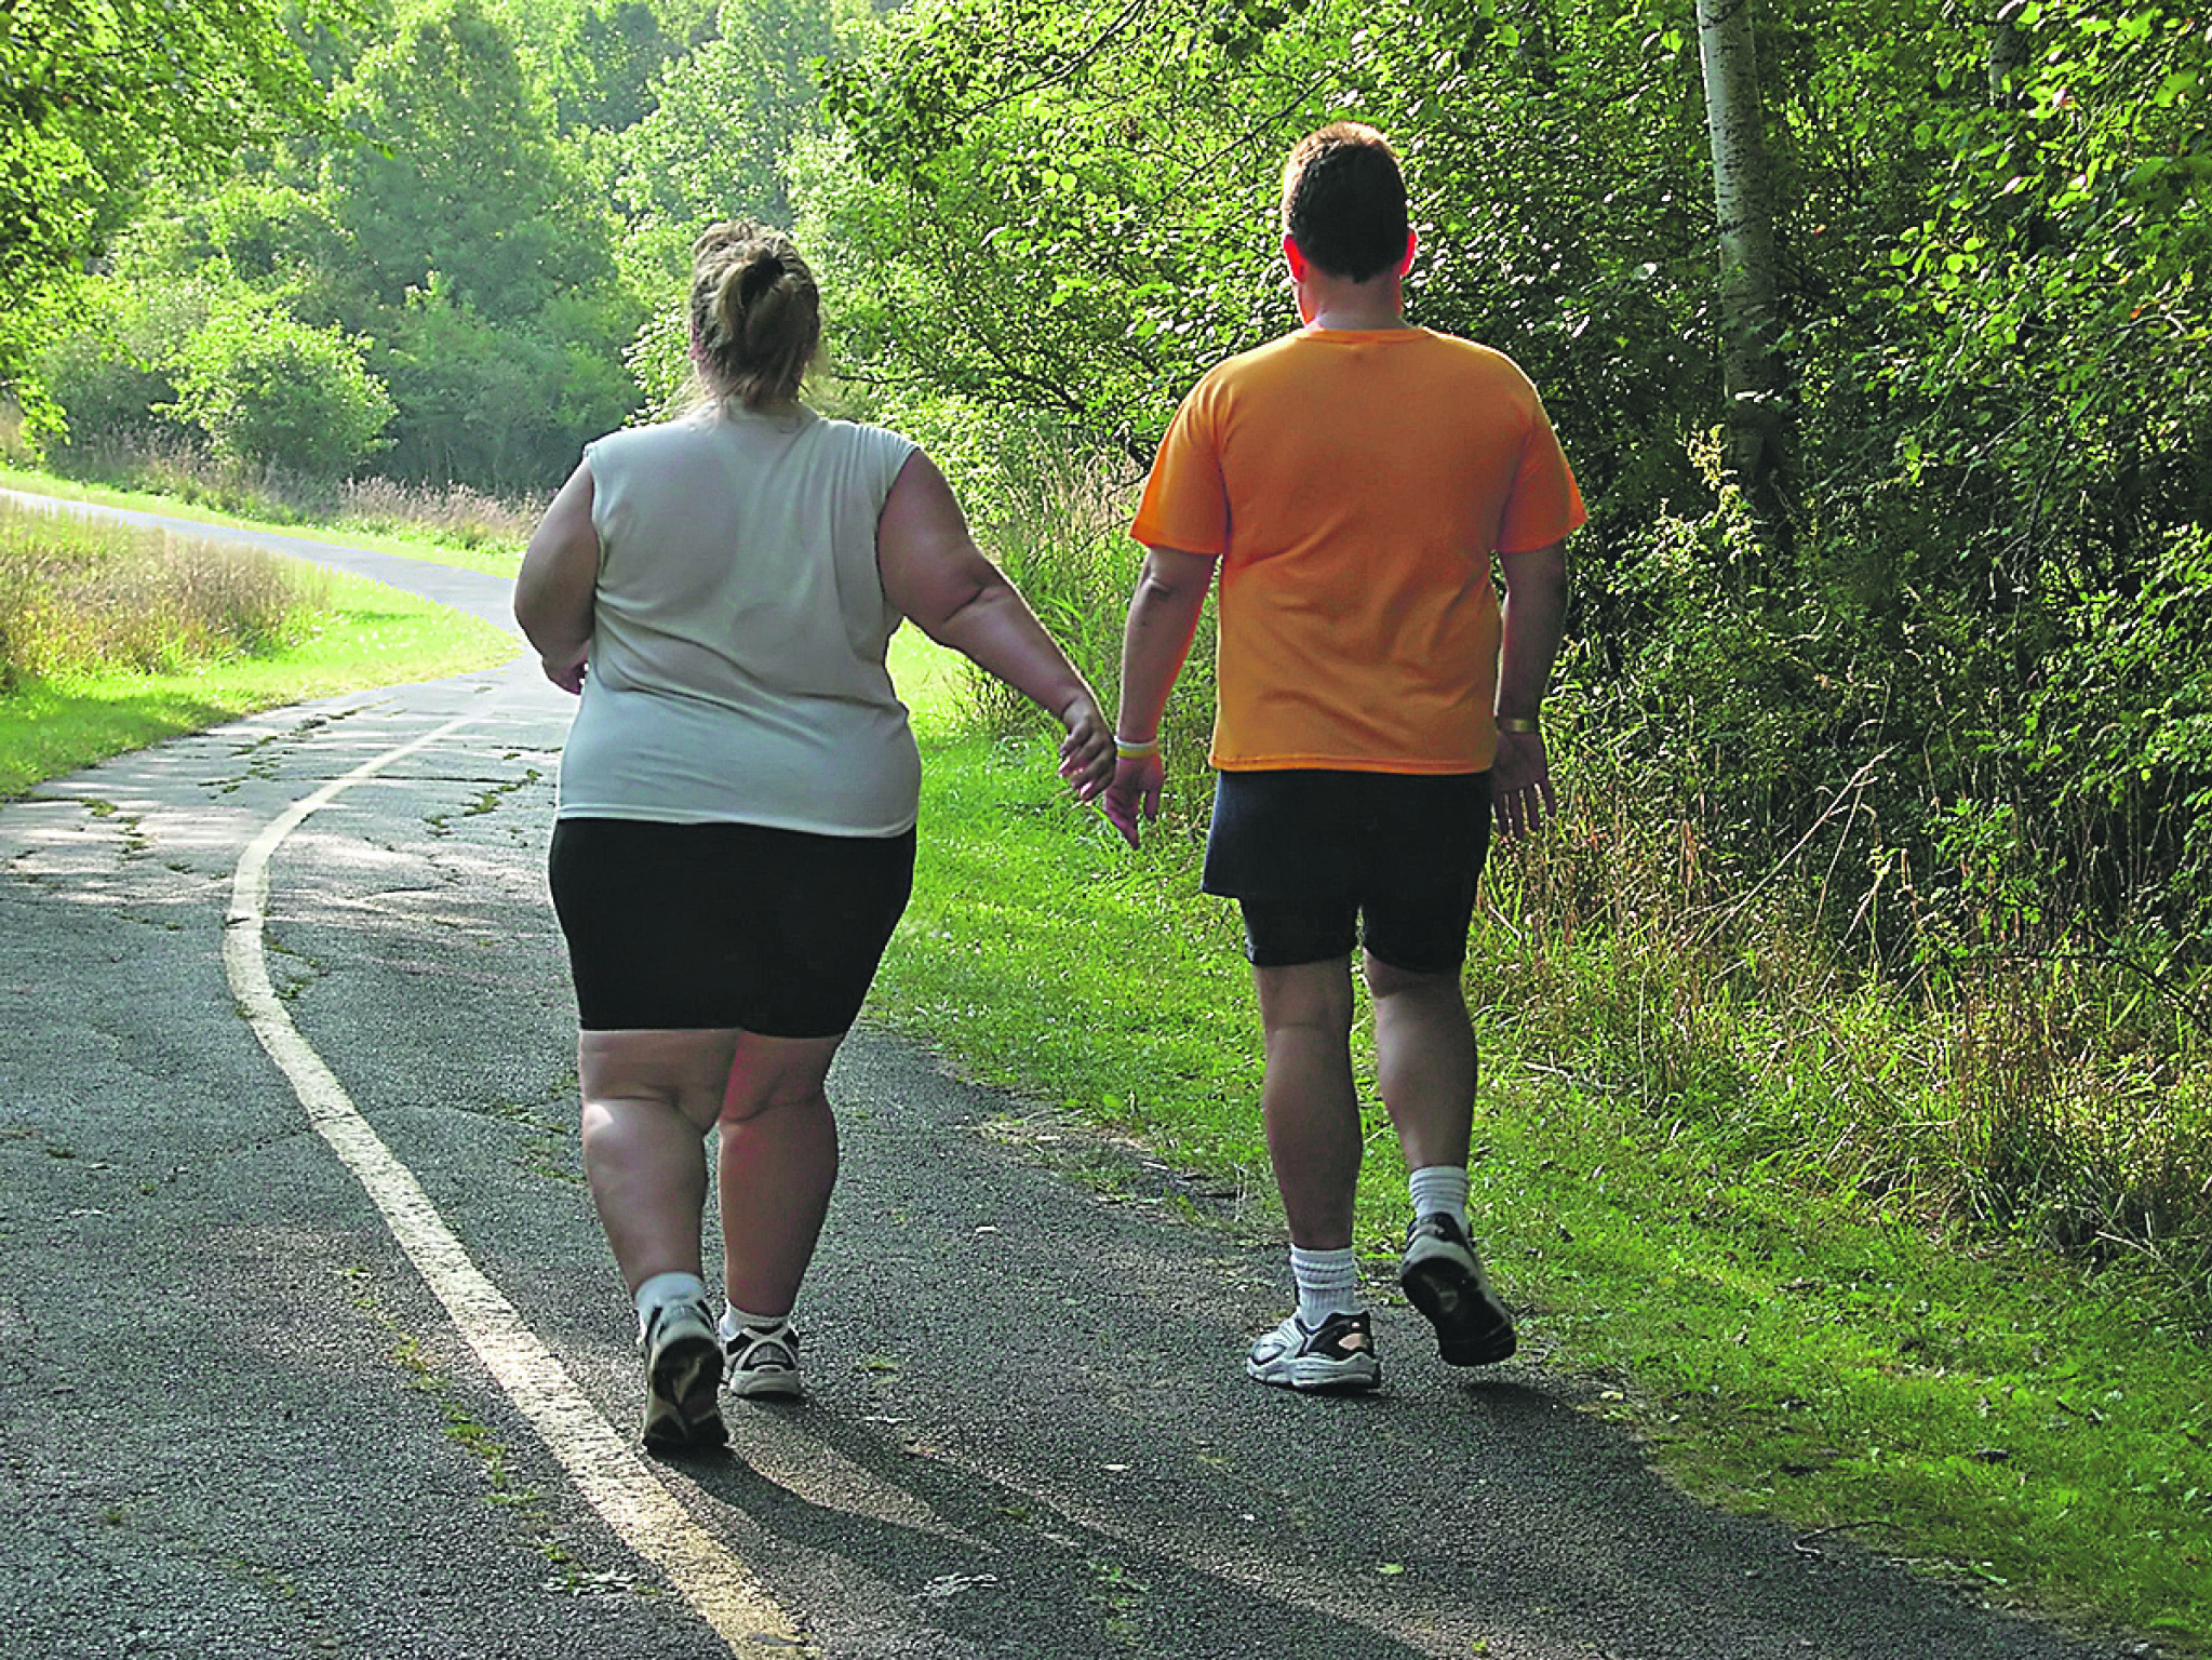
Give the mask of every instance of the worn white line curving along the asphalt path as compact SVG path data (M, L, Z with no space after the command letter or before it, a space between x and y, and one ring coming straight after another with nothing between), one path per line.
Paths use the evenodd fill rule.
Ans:
M363 761L294 801L252 839L239 857L230 883L230 912L223 916L223 969L230 976L230 992L270 1060L292 1080L301 1107L307 1109L307 1122L367 1189L392 1237L422 1270L462 1337L491 1368L522 1417L544 1436L593 1509L630 1549L668 1576L734 1656L790 1660L794 1649L805 1647L792 1620L770 1600L752 1571L686 1514L644 1456L584 1399L553 1352L522 1324L515 1306L469 1259L414 1171L392 1155L323 1058L299 1036L299 1027L270 987L261 930L268 919L270 859L283 839L354 784L429 748L471 719L476 717L447 722L411 744Z

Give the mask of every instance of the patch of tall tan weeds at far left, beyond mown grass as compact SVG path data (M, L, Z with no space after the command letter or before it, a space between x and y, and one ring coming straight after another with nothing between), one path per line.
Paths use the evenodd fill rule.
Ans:
M261 653L310 626L325 591L270 553L0 502L0 693Z

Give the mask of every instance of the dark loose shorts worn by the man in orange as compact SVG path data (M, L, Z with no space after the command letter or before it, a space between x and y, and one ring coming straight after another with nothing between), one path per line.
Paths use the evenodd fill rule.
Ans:
M1201 885L1243 910L1254 967L1365 945L1451 974L1489 850L1489 772L1219 772Z

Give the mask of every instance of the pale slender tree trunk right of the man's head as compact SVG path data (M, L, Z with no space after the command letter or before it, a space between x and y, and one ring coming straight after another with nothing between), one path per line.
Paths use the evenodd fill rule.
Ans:
M1697 51L1712 135L1712 204L1721 230L1721 372L1728 458L1754 511L1781 527L1783 359L1774 193L1752 0L1697 0Z

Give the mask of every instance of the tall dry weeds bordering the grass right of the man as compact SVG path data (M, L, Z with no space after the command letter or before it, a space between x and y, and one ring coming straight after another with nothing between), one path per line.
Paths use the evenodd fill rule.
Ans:
M1898 983L1816 925L1818 868L1730 861L1584 733L1553 755L1564 812L1493 857L1469 963L1511 1049L1650 1135L1694 1124L1721 1189L2137 1262L2212 1321L2212 1040L2170 987L2090 952Z

